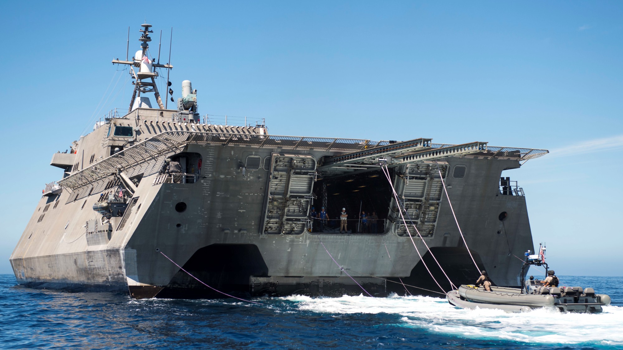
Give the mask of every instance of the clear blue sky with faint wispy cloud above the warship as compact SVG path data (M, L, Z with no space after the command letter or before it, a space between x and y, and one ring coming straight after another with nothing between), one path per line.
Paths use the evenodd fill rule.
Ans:
M6 2L0 19L0 273L69 148L127 108L138 49L168 55L201 115L274 135L545 148L505 176L559 275L623 275L623 2ZM113 88L114 87L114 88ZM99 107L97 107L99 105ZM576 257L579 258L576 259ZM574 263L569 263L573 261Z

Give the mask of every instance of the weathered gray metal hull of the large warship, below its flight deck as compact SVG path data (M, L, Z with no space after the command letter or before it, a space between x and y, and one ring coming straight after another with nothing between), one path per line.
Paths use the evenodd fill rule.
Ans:
M97 138L97 133L98 130L89 136ZM273 164L279 156L313 159L312 168L304 169L312 179L316 176L312 173L317 159L336 153L340 154L331 150L186 143L170 155L154 156L146 159L145 164L128 168L128 177L142 176L140 184L124 215L112 217L108 227L100 232L89 232L85 223L98 220L98 214L90 208L102 194L110 192L107 186L115 176L105 176L95 186L76 185L73 191L44 196L11 257L17 281L32 286L123 290L135 297L218 296L182 272L165 254L218 290L252 295L362 293L346 272L377 295L391 291L406 293L402 283L397 283L398 278L408 285L439 290L424 268L415 244L435 279L444 289L449 289L439 267L427 258L430 253L423 240L444 270L452 273L454 283L470 282L477 275L440 187L429 186L420 194L411 194L413 198L437 196L434 232L424 239L417 235L409 237L401 231L404 225L399 222L396 210L392 211L396 202L389 194L389 182L383 184L378 180L381 176L375 177L376 182L358 179L357 184L383 187L382 196L376 192L371 193L372 199L369 193L348 198L338 196L342 197L341 201L334 199L332 203L330 199L328 204L333 217L345 201L350 207L356 203L373 206L384 218L378 234L358 234L352 230L349 234L309 232L304 225L300 232L296 225L285 233L268 232L271 219L267 213L275 197L271 184L278 171L264 166L249 169L241 166L244 159L257 155L261 159L273 159ZM201 157L202 166L194 170L197 174L193 183L166 179L159 183L158 177L163 174L158 169L176 154ZM462 177L446 176L445 180L465 240L477 263L487 268L496 284L518 285L516 271L521 260L513 255L520 255L533 245L525 197L502 195L498 179L504 169L518 168L519 161L490 157L448 157L440 161L445 162L447 172L457 165L466 169ZM408 171L406 168L392 171L392 182L403 195L409 191L409 184L401 174ZM346 179L348 174L334 182ZM303 186L307 197L316 196L315 182L318 180ZM70 184L66 186L69 188ZM179 203L185 207L181 212L176 210ZM305 213L295 224L304 224L311 205L305 204ZM40 210L46 206L49 208L41 219ZM356 212L358 208L349 209ZM504 220L500 220L502 212L507 213ZM425 225L422 220L422 227ZM407 288L411 293L426 293Z

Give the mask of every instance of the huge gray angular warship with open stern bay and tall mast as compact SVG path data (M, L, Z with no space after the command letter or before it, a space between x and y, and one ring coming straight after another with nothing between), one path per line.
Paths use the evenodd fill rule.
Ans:
M533 242L523 189L503 171L548 151L270 135L263 120L202 118L188 80L168 109L156 82L173 66L148 57L142 27L135 56L113 60L133 78L128 112L52 156L64 173L11 255L19 284L133 298L421 294L451 289L442 268L472 283L475 262L495 285L520 285L517 256ZM326 222L310 215L322 207Z

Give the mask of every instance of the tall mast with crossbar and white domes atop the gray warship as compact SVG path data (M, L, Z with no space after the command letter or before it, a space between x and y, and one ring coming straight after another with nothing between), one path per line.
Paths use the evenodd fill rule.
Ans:
M173 65L169 62L168 64L159 64L151 61L147 57L147 49L149 48L148 42L151 41L150 31L151 24L141 24L143 29L140 29L140 32L143 34L138 39L141 42L141 50L136 51L135 57L132 57L132 60L119 60L115 59L112 61L113 64L126 64L130 65L130 74L136 80L132 82L134 85L134 92L132 93L132 99L130 100L130 108L128 111L135 110L136 108L147 105L148 99L141 99L141 93L153 93L156 102L158 102L158 106L161 110L164 110L164 105L162 103L162 98L160 97L160 93L158 92L158 87L156 87L156 78L158 77L158 72L155 72L155 68L165 68L165 69L173 69ZM140 57L139 57L140 56ZM138 69L136 72L135 69ZM137 99L138 98L138 102Z

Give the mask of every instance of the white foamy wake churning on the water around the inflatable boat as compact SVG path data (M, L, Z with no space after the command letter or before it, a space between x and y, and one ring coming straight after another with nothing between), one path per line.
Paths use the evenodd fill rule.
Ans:
M389 313L401 315L402 325L473 339L505 339L526 343L623 344L623 308L604 306L599 314L560 313L536 309L527 313L467 310L445 299L428 296L342 296L277 298L294 301L298 310L316 313Z

